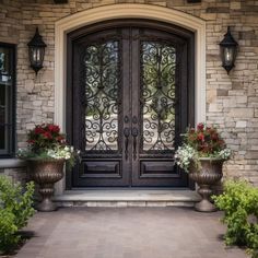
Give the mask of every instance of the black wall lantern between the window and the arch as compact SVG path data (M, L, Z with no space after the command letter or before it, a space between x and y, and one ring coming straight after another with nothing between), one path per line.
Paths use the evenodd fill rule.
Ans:
M38 27L32 40L27 44L28 57L31 61L31 68L37 72L43 68L43 61L45 56L46 44L43 42L43 37L38 33Z

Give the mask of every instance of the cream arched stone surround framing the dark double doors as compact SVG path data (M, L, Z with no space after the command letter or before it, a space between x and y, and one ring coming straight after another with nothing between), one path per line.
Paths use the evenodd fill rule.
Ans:
M66 45L67 34L69 34L71 31L74 31L79 27L90 25L90 24L96 24L97 22L101 22L101 21L110 20L110 19L112 20L128 19L128 17L130 19L141 17L144 20L165 22L166 24L174 24L174 25L177 24L183 27L183 31L184 28L187 28L188 31L194 32L195 44L196 44L194 56L195 56L196 66L192 64L191 68L192 68L192 71L195 70L195 82L196 82L195 83L196 85L195 86L195 102L198 103L198 105L196 105L195 107L195 119L196 121L204 120L206 94L204 94L204 51L203 51L204 49L204 23L203 21L192 17L189 14L185 14L175 10L169 10L169 9L153 7L153 5L148 5L148 4L116 4L114 8L108 5L108 7L97 8L94 10L84 11L83 13L78 13L70 17L66 17L57 22L56 24L56 96L55 96L56 122L61 125L62 128L66 128L64 127L66 125L64 110L66 110L66 79L67 79L66 74L67 73L64 69L66 68L64 60L66 60L66 51L67 51L67 45ZM134 104L130 104L130 105L131 107L136 106ZM132 118L133 116L130 117L130 119ZM125 116L124 116L124 119L125 119ZM121 141L125 142L125 139L122 139ZM126 146L122 145L121 150L125 151L125 148ZM132 150L130 155L133 155L132 153L133 140L131 140L130 148ZM124 156L126 154L124 152ZM130 159L133 160L133 156L131 156ZM150 167L150 164L152 162L153 160L150 160L149 165L148 164L144 164L144 165ZM116 167L116 164L115 165L114 164L112 165L109 164L109 165ZM92 165L92 167L95 166L94 162L90 165ZM163 165L166 166L166 164L163 164ZM130 165L130 166L133 167L133 165ZM137 166L141 167L142 165L138 163ZM163 184L161 184L161 186ZM64 188L64 181L62 181L62 185L59 185L59 192L63 188Z

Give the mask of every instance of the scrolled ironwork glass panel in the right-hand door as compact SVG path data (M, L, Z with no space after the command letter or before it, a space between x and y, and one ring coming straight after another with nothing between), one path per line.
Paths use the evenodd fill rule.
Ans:
M141 42L141 117L145 152L173 151L176 49L165 42Z

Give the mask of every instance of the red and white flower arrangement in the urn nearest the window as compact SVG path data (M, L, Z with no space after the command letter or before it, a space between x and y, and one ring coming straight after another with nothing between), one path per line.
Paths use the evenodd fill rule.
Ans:
M71 167L80 152L66 143L66 137L59 126L52 124L36 125L27 134L27 150L19 150L21 159L66 160Z

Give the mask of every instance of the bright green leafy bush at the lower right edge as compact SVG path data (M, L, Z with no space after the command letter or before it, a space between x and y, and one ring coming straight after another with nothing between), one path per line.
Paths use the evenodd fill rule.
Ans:
M213 196L213 200L225 212L225 244L245 246L253 258L258 258L258 188L244 180L228 180L224 194Z

